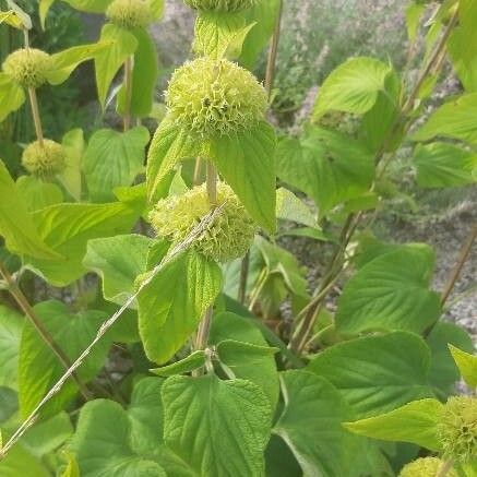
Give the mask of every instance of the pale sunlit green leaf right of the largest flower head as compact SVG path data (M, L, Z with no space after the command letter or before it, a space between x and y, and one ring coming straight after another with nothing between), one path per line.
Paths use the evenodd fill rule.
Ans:
M392 72L389 64L373 58L350 58L336 68L320 87L313 107L313 120L326 111L344 111L362 115L369 111L384 91L386 76Z

